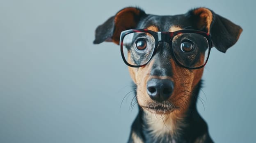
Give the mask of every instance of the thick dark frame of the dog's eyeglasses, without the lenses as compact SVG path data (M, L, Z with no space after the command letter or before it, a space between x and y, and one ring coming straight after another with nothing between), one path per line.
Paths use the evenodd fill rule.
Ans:
M129 64L127 61L126 61L126 58L124 56L124 53L123 53L123 38L127 35L127 34L130 34L130 33L137 33L137 32L144 32L144 33L149 33L151 34L154 39L155 39L155 47L153 49L153 54L151 55L151 57L149 58L149 60L143 64L143 65L131 65ZM208 55L207 55L207 59L206 59L206 62L199 66L199 67L187 67L187 66L184 66L182 65L181 63L178 62L177 60L177 57L176 55L174 54L174 49L172 48L172 40L174 38L174 36L178 35L178 34L183 34L183 33L195 33L195 34L200 34L202 36L204 36L207 40L208 40ZM161 39L158 40L158 35L161 35ZM149 63L149 61L151 60L151 58L154 56L155 54L155 51L156 51L156 47L158 46L158 43L159 42L168 42L170 47L171 47L171 51L172 51L172 54L174 55L174 59L176 60L176 63L178 63L178 65L180 65L181 67L185 67L187 69L200 69L202 67L204 67L209 59L209 56L210 56L210 49L212 49L213 45L212 45L212 42L210 40L210 34L204 32L204 31L199 31L199 30L194 30L194 29L184 29L184 30L178 30L178 31L174 31L174 32L162 32L162 31L158 31L158 32L155 32L155 31L151 31L149 29L129 29L129 30L126 30L126 31L122 31L121 32L121 36L120 36L120 49L121 49L121 56L123 58L123 62L130 66L130 67L143 67L145 66L146 64Z

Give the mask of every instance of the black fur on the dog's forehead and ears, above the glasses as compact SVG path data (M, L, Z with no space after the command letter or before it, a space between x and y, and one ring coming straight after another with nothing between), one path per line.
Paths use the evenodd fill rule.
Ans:
M146 14L142 9L136 9L140 11L139 15L134 17L135 22L138 23L137 27L123 27L126 28L123 30L133 28L146 28L150 25L157 26L160 31L168 31L169 27L172 25L177 25L183 28L192 27L192 29L197 29L197 27L195 27L195 20L198 20L198 18L193 13L194 9L183 15L176 16L155 16ZM211 12L213 14L213 20L210 27L210 36L212 37L213 45L219 51L225 53L226 50L233 46L238 40L239 35L242 32L242 28L238 25L235 25L228 19L215 14L213 11ZM121 25L115 25L114 17L115 16L112 16L102 25L97 27L94 44L99 44L105 40L110 41L110 38L112 38L114 32L119 32L117 35L120 35L121 31L115 31L115 29L116 27L121 27ZM206 29L198 30L206 31Z

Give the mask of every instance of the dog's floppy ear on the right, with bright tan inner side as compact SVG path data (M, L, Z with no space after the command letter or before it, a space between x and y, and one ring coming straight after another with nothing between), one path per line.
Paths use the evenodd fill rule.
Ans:
M213 46L224 53L235 44L242 32L240 26L210 9L193 9L187 13L187 16L192 20L193 27L210 33Z

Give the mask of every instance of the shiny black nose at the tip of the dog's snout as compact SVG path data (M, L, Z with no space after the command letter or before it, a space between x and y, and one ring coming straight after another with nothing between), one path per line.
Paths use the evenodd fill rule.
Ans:
M169 79L152 78L147 82L147 92L151 99L162 102L166 101L173 91L174 84Z

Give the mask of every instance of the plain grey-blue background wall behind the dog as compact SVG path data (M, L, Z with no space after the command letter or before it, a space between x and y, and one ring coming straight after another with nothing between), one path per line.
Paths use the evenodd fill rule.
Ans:
M256 142L253 0L0 0L0 143L123 143L137 107L119 47L96 27L127 6L174 15L208 7L243 28L213 49L198 109L217 143ZM204 107L203 107L204 106Z

